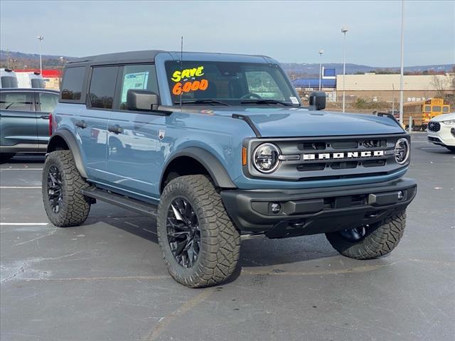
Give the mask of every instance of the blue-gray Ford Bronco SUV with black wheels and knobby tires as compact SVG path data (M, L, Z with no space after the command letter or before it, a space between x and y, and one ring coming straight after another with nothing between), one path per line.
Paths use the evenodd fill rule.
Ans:
M97 200L156 217L169 273L189 287L235 270L242 234L325 233L353 259L394 249L417 185L393 117L303 107L276 60L161 50L65 66L43 169L50 222Z

